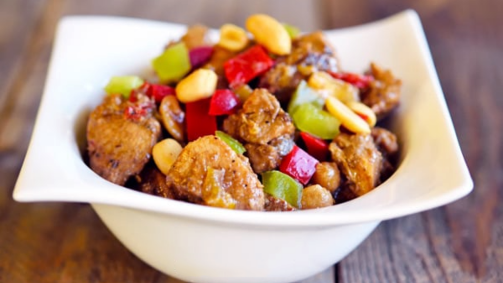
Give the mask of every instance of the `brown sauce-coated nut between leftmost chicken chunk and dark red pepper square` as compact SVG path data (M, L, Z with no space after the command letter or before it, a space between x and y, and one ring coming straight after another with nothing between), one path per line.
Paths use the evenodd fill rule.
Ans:
M159 113L162 124L176 140L184 140L185 113L174 95L168 95L162 99L159 105Z

